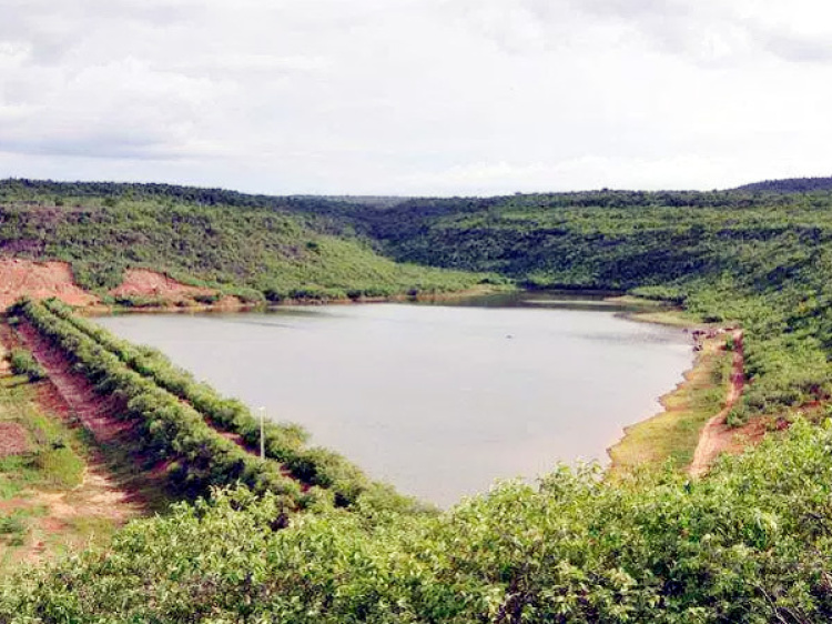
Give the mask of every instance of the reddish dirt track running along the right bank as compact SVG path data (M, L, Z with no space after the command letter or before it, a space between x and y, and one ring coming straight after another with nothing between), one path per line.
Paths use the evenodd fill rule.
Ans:
M735 330L731 334L731 338L733 339L733 360L726 403L722 410L712 416L702 427L697 450L693 453L693 461L688 466L688 473L691 476L706 474L713 461L721 453L740 450L741 444L738 443L738 437L744 436L750 440L760 437L761 434L758 431L759 423L749 423L744 427L733 429L726 422L731 409L740 400L740 396L742 396L745 385L742 330Z

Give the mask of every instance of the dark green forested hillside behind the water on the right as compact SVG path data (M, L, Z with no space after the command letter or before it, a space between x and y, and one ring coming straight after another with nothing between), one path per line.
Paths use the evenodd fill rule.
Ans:
M342 211L403 262L632 290L745 325L745 412L832 391L832 193L598 191Z

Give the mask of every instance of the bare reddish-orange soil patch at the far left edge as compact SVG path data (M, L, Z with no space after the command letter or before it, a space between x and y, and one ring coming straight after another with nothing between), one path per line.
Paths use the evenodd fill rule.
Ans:
M71 305L90 305L98 298L79 288L65 262L33 262L0 258L0 310L21 296L57 296Z

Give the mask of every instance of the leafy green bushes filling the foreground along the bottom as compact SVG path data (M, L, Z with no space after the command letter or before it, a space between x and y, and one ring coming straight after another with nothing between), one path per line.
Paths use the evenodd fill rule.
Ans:
M294 516L245 491L139 522L3 592L20 622L824 622L832 431L707 480L560 470L438 517ZM270 529L271 527L271 529ZM27 620L32 618L32 620Z

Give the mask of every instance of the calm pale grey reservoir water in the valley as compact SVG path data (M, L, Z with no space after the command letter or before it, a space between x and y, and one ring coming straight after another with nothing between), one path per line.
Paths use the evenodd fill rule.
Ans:
M444 506L497 479L606 462L692 362L681 330L539 294L97 322Z

